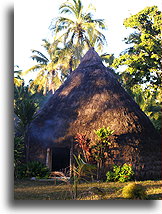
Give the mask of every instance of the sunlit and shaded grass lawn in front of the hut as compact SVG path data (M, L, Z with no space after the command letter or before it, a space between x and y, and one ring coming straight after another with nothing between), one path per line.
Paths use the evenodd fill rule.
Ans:
M78 184L77 200L126 200L122 188L132 182L99 182ZM162 200L162 180L136 182L147 189L148 200ZM15 200L72 200L72 185L54 184L53 181L15 181ZM97 192L100 190L100 192Z

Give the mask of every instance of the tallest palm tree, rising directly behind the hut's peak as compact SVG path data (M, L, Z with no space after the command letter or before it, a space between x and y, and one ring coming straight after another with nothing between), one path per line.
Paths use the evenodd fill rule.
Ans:
M87 51L90 47L102 51L107 43L101 30L105 30L106 26L103 19L93 19L90 11L95 9L92 5L85 11L81 0L71 0L63 3L59 10L64 16L52 22L51 30L70 47L71 61L80 60L83 50Z

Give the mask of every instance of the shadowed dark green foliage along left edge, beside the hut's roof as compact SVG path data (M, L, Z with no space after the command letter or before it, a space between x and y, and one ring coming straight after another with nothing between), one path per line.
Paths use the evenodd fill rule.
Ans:
M18 167L23 159L27 159L28 150L26 142L26 131L28 125L34 119L35 113L42 101L42 94L32 94L28 86L14 87L14 120L15 120L15 137L14 137L14 163L15 176L17 177ZM26 157L25 157L26 155ZM22 170L20 170L22 171ZM21 176L20 176L21 177Z

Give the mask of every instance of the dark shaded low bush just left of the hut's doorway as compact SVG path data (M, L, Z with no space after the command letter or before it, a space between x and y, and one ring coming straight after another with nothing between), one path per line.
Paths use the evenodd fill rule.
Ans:
M39 161L31 161L18 167L18 178L48 178L50 170Z

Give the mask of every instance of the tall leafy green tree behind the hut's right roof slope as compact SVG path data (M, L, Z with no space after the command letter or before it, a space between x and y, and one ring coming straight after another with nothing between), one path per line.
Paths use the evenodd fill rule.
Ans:
M124 25L134 30L125 38L130 47L113 66L124 66L123 86L162 134L162 12L157 6L146 7L125 19Z

